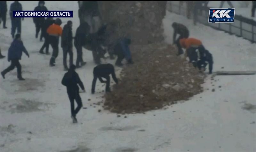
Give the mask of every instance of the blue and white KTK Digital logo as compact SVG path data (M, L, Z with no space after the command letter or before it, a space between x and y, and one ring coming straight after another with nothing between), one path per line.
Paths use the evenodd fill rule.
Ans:
M212 23L233 23L235 17L235 9L216 9L210 8L209 20Z

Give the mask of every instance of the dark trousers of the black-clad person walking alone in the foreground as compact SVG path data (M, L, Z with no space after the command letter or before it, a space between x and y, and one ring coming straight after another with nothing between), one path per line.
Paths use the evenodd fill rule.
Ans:
M68 91L68 98L70 101L71 115L76 117L76 114L79 112L79 110L83 106L81 97L79 95L79 91L70 89L70 91ZM74 100L76 100L76 104L77 104L76 109L75 109Z

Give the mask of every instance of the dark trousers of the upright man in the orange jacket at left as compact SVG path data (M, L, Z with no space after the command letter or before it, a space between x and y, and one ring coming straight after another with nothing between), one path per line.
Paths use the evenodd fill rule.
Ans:
M49 42L53 49L50 65L53 65L55 63L55 59L58 57L58 54L59 54L59 37L49 36Z

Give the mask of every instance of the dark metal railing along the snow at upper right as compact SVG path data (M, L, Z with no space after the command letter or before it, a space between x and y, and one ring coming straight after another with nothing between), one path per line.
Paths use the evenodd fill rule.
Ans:
M209 9L209 7L198 7L196 10L196 22L202 23L206 26L210 26L216 30L225 31L229 34L234 34L238 37L243 37L244 39L247 39L252 43L256 42L255 20L248 19L241 15L235 14L234 23L208 23ZM187 16L188 11L186 3L181 3L180 1L168 1L167 10L169 12L173 12L183 16ZM191 10L191 13L193 13L193 9ZM192 14L191 17L193 18Z

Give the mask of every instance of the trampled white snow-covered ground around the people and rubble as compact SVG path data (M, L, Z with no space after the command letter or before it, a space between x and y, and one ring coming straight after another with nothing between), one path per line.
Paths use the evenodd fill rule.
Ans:
M12 2L7 3L9 9ZM38 2L20 3L24 10L33 10ZM72 20L75 33L79 24L76 1L46 1L46 6L49 10L73 10L73 18L62 20ZM255 70L255 44L201 24L193 26L192 20L167 12L163 23L168 43L172 42L171 24L174 21L185 24L190 36L201 39L212 52L214 71ZM7 26L8 29L2 29L2 26L0 29L4 55L7 55L12 42L9 19ZM84 50L87 64L77 72L87 91L81 93L87 109L81 109L77 115L79 124L72 124L66 88L60 83L65 73L62 50L59 51L56 67L49 67L50 56L39 55L38 50L43 42L34 37L32 19L25 18L22 21L22 40L30 58L23 54L20 63L26 81L17 80L16 69L8 73L5 79L0 78L1 152L66 152L72 149L74 152L256 151L255 107L249 106L251 110L244 108L256 104L255 75L218 76L215 77L215 80L219 79L216 82L208 77L203 84L205 91L189 101L172 105L166 110L126 115L127 118L124 115L116 117L116 114L105 110L99 113L101 107L93 105L102 100L103 92L100 91L104 90L104 86L98 84L95 95L90 94L95 65L92 52ZM73 52L76 59L75 48ZM1 59L0 70L9 64L6 58ZM120 68L116 70L120 72ZM211 91L212 88L215 92Z

